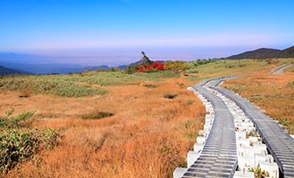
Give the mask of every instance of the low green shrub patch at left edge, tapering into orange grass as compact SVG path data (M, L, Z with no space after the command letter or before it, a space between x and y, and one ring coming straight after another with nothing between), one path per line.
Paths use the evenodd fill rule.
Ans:
M0 81L2 90L22 91L20 97L29 97L31 93L57 94L64 97L82 97L107 93L101 88L79 85L75 78L61 76L18 76L5 77Z

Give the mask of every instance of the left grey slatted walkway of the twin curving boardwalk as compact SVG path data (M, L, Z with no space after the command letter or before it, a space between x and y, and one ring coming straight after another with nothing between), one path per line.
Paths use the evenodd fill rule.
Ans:
M199 158L187 169L184 177L231 177L237 167L233 116L225 102L202 87L202 84L194 87L210 101L214 108L214 121Z

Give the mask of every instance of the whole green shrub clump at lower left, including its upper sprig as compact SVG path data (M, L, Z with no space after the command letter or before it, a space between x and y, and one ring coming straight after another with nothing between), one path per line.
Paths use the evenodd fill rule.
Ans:
M42 149L53 149L57 145L58 134L50 128L43 130L25 128L24 124L33 116L24 112L11 117L14 109L0 117L0 177L20 161L32 158Z

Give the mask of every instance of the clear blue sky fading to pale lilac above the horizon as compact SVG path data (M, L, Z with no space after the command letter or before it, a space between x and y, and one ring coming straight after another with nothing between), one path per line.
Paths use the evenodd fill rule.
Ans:
M293 0L0 0L0 52L224 57L290 47L293 21Z

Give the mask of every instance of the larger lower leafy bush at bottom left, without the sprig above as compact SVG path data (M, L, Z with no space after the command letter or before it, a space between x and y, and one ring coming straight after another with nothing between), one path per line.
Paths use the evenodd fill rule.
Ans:
M41 149L52 149L58 134L52 129L0 129L0 173L16 166L21 160L31 158Z

